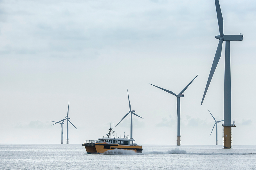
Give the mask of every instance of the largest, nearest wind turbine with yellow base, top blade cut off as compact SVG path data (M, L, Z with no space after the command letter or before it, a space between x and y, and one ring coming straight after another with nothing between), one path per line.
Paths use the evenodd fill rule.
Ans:
M207 89L212 80L212 76L217 67L219 59L221 57L221 49L223 41L226 41L225 47L225 73L224 73L224 137L223 137L223 148L232 148L232 134L231 127L235 127L235 125L231 124L231 76L230 76L230 41L242 41L243 34L240 35L224 35L223 33L223 18L221 13L221 7L219 5L219 0L215 0L217 19L219 25L219 33L220 35L215 36L215 38L219 39L219 44L214 56L214 60L212 63L212 68L208 77L208 81L206 83L205 92L202 98L201 105L203 104Z

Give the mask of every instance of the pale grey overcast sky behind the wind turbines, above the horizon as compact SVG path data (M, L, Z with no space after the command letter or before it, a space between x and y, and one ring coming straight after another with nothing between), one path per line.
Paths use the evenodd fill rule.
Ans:
M231 42L233 145L255 145L256 1L220 0ZM138 144L176 144L179 93L182 144L214 145L223 120L224 54L203 105L219 40L214 0L0 1L0 143L69 143L108 132L131 109ZM130 116L115 135L130 135ZM66 122L64 124L66 143ZM222 127L218 125L218 141Z

